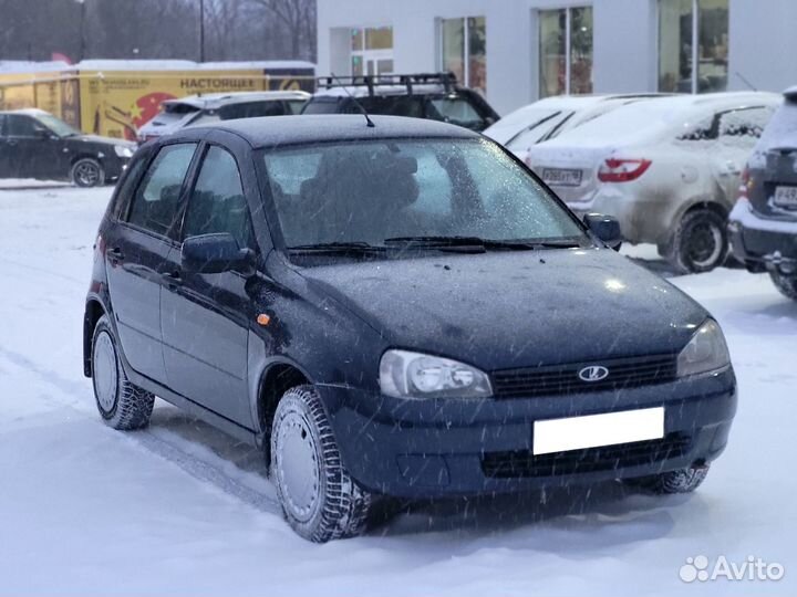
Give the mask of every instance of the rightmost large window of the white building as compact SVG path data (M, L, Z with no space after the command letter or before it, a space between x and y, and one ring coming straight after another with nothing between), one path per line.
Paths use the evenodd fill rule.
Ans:
M727 56L728 0L659 1L659 91L725 91Z

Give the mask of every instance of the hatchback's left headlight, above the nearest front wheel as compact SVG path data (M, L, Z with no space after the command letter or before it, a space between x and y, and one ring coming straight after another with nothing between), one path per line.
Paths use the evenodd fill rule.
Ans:
M380 362L380 388L394 398L485 398L487 375L470 365L407 350L387 350Z

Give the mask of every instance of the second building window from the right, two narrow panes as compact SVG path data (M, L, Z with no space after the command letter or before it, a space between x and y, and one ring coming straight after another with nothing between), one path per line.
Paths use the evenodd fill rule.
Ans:
M592 8L539 11L539 95L592 93Z

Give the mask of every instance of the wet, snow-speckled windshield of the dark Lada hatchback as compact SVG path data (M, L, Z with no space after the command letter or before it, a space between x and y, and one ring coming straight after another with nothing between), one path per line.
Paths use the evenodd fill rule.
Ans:
M287 248L401 240L588 242L528 172L484 139L359 140L262 154Z

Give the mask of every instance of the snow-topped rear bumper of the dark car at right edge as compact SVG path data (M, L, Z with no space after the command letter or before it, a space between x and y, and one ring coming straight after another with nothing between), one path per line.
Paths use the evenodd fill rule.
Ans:
M765 219L741 201L731 213L728 235L734 256L752 272L797 272L797 222Z

